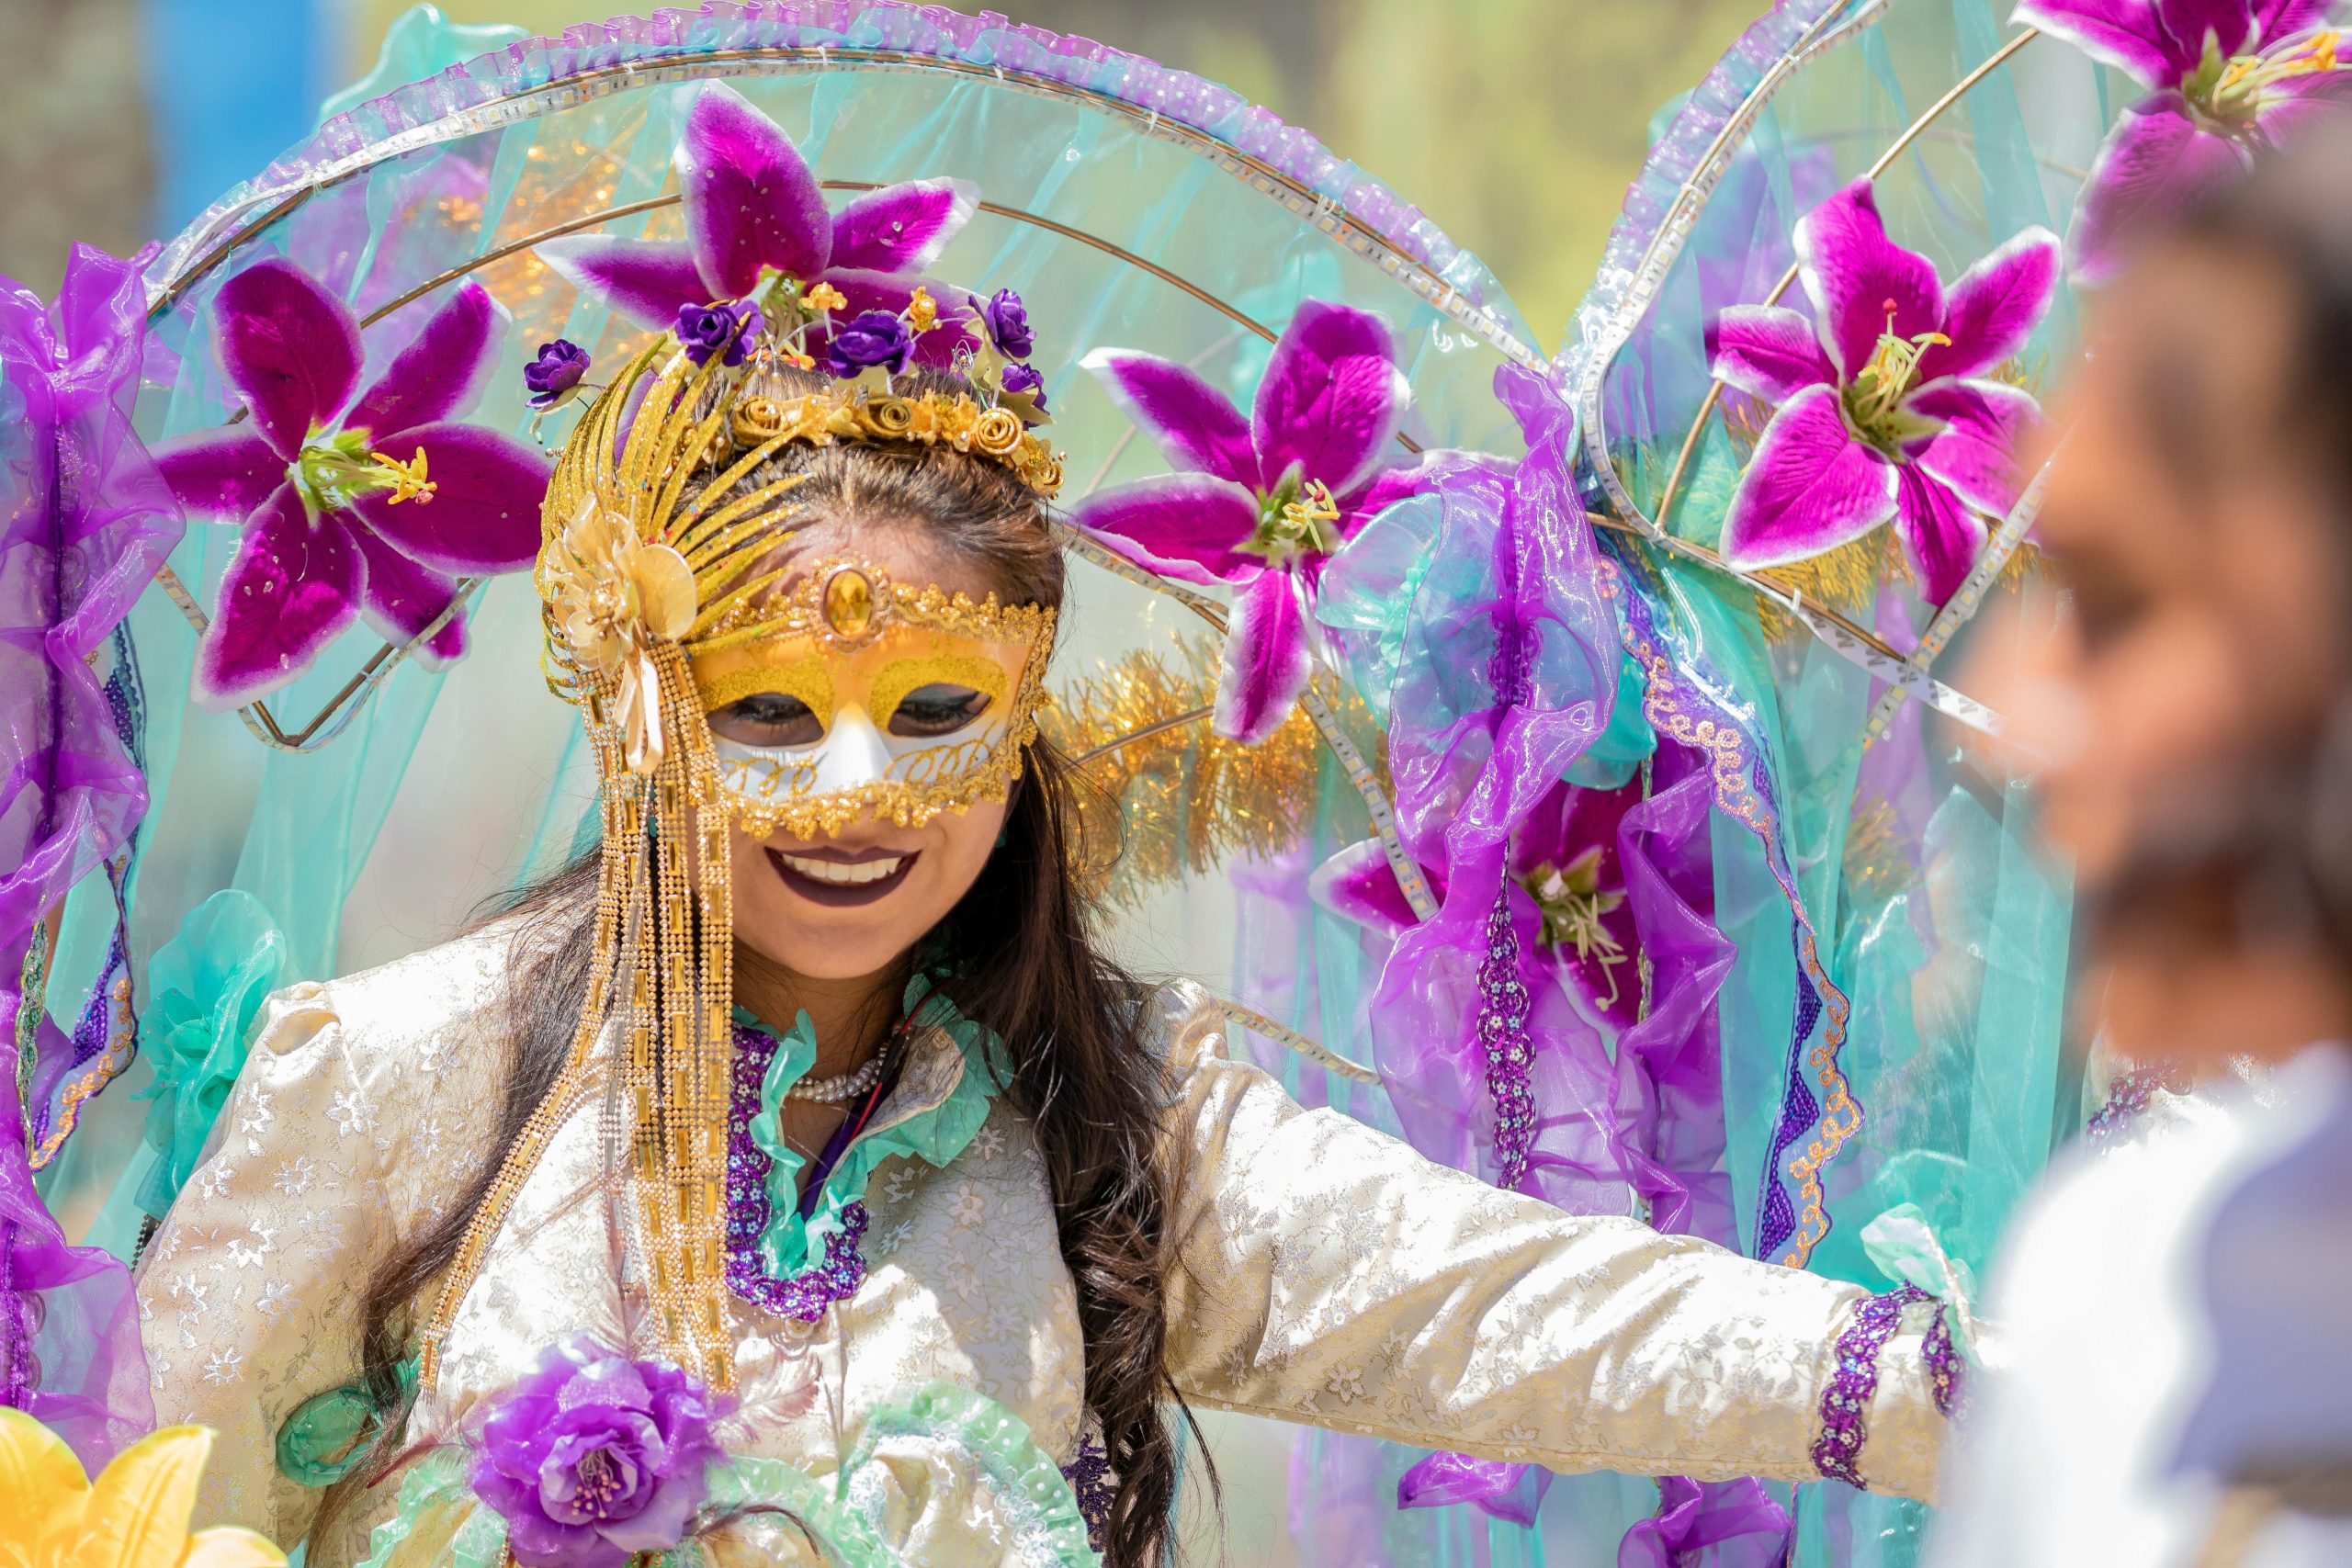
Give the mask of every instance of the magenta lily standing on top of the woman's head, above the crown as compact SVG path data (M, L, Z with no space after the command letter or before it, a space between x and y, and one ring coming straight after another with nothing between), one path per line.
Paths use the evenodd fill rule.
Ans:
M969 181L917 179L828 212L783 127L722 82L694 92L670 167L684 240L572 235L536 247L581 292L654 331L670 327L680 306L748 299L771 284L783 284L788 301L830 284L847 301L833 306L844 322L866 310L898 315L924 282L922 268L978 209ZM941 301L941 329L922 334L915 357L948 364L955 348L978 346L976 324L948 303L962 292L931 284L931 296Z

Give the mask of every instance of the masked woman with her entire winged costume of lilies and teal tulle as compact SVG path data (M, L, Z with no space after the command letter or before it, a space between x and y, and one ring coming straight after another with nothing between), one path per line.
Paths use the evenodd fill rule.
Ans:
M1557 1561L1910 1561L2074 1091L2065 882L1931 665L2032 569L2056 230L2096 280L2138 136L2340 80L2239 9L2206 61L2122 0L1773 7L1557 360L1364 172L1084 40L405 54L7 315L33 562L111 564L24 642L75 762L0 903L9 1401L148 1422L120 1265L19 1201L143 1041L94 1237L153 1232L153 1415L322 1561L1141 1561L1169 1392L1312 1425L1327 1561L1510 1561L1595 1467L1675 1474L1555 1486ZM1228 860L1249 1006L1087 957ZM541 891L362 961L477 863Z

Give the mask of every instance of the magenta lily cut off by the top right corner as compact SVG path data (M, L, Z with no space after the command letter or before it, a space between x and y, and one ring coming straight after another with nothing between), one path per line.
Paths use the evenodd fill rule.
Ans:
M2107 132L2067 233L2074 277L2105 282L2124 240L2237 179L2352 103L2331 0L2020 0L2011 21L2063 38L2152 89Z

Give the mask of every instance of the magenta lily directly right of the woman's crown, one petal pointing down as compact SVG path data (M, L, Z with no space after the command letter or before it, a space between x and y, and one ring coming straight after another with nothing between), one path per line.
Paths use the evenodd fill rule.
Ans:
M1421 484L1425 463L1385 465L1411 397L1388 322L1298 306L1249 416L1171 360L1098 348L1080 364L1181 473L1096 491L1073 522L1138 567L1235 590L1214 729L1258 743L1305 691L1324 562Z

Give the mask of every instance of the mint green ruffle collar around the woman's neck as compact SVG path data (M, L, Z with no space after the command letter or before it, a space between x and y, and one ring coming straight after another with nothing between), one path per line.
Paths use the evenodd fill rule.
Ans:
M908 1032L898 1088L882 1105L875 1126L842 1150L807 1220L800 1218L800 1168L807 1159L783 1140L779 1110L786 1091L816 1065L816 1025L800 1013L779 1034L741 1006L734 1013L736 1023L776 1041L776 1056L760 1079L760 1107L750 1119L750 1140L769 1159L760 1267L771 1279L823 1260L826 1237L842 1229L844 1208L866 1201L873 1171L884 1159L903 1154L946 1166L962 1154L988 1121L988 1103L1011 1079L1004 1041L957 1013L927 976L917 973L908 983L903 1006L915 1027Z

